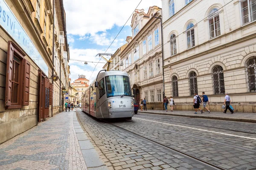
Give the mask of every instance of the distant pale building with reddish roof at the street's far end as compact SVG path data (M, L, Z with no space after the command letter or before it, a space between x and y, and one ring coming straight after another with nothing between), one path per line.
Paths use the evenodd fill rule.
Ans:
M73 83L71 83L73 87L76 88L78 96L77 96L77 102L81 102L81 96L84 94L86 89L89 87L89 80L86 79L84 75L79 75L78 79L76 79ZM77 103L77 104L79 104Z

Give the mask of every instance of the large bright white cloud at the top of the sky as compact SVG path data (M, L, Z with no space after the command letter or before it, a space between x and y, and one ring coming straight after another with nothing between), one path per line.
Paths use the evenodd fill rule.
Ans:
M123 26L139 0L64 0L68 34L84 36ZM162 6L161 0L143 0L138 9ZM131 20L131 19L130 19ZM128 25L131 22L127 23Z

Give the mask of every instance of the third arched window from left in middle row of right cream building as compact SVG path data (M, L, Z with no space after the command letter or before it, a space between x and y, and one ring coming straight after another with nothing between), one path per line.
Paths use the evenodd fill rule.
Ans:
M210 38L219 36L221 34L221 28L220 28L220 18L219 18L217 8L214 8L209 12L208 20L209 20Z

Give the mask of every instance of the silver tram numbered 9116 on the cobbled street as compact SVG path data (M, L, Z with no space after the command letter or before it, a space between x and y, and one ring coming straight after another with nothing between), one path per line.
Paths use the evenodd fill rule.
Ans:
M123 71L99 71L82 96L81 109L98 119L131 119L134 101L128 74Z

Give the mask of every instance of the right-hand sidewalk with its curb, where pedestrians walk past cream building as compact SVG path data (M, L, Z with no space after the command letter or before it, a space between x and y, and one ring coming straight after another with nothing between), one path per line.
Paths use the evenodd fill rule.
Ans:
M162 114L170 116L183 116L183 117L192 117L192 118L203 118L203 119L217 119L217 120L229 120L236 122L250 122L256 123L256 113L221 113L221 112L205 112L201 114L198 111L197 114L194 114L193 111L159 111L159 110L147 110L147 111L138 111L139 113L150 113L150 114Z

